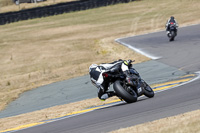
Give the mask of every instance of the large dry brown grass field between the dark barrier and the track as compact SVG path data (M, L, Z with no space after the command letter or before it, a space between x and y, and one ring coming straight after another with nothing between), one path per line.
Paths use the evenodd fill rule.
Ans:
M200 23L199 7L199 0L144 0L0 26L0 109L24 91L85 75L92 63L148 60L114 39L164 29L171 15L180 26Z

